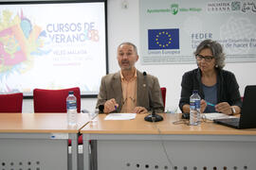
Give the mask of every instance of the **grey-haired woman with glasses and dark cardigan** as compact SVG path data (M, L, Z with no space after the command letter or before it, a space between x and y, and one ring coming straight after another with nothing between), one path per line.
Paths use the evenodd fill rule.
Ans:
M240 113L242 100L235 76L226 70L225 54L220 43L205 40L201 42L194 56L198 68L182 76L179 108L190 112L190 96L198 90L201 96L202 112Z

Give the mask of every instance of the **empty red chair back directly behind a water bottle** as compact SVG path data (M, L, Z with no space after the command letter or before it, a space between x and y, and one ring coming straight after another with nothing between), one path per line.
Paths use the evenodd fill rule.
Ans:
M77 97L77 110L81 111L80 88L74 87L61 90L34 89L34 112L66 112L66 97L73 91Z

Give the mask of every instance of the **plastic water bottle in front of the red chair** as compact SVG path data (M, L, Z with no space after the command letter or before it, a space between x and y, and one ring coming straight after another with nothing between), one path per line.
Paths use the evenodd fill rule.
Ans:
M66 97L66 113L68 126L74 127L77 125L77 98L73 91L68 92Z

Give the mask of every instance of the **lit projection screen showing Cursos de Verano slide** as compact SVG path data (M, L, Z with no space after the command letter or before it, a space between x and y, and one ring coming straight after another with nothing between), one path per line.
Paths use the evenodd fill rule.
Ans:
M107 74L105 1L0 3L0 93L80 87Z

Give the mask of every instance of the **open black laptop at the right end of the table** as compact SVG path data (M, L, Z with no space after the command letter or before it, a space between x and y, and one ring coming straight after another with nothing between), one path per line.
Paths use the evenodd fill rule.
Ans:
M234 128L256 127L256 85L247 86L240 118L215 119L214 123Z

